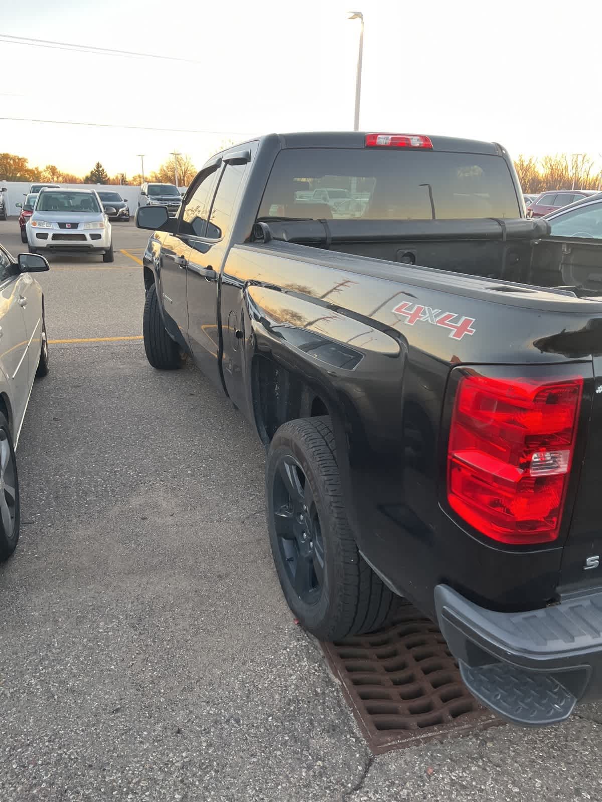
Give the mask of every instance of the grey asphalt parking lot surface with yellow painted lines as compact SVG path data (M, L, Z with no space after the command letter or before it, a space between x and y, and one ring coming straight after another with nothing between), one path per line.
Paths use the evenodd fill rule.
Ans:
M602 800L602 705L372 758L283 602L261 445L193 367L146 361L147 236L115 224L112 265L54 256L40 278L51 373L0 566L2 802ZM16 221L0 241L22 250Z

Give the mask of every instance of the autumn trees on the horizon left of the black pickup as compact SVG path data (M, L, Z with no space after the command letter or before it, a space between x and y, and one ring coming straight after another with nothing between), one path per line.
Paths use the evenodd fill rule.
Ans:
M176 176L177 172L177 176ZM109 176L100 161L86 176L75 176L71 172L64 172L55 166L47 164L46 167L31 167L25 156L16 156L14 153L0 153L0 180L2 181L46 181L49 184L121 184L140 186L144 181L153 181L159 184L173 184L177 177L179 187L187 187L197 174L192 159L188 154L177 156L177 162L171 156L161 167L153 172L139 173L128 179L124 172L116 176Z

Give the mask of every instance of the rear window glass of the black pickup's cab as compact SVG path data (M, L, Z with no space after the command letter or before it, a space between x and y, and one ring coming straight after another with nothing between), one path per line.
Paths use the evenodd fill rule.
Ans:
M319 188L339 186L357 201L339 209ZM311 200L299 190L311 189ZM383 148L291 148L279 153L258 219L449 220L520 217L502 156Z

